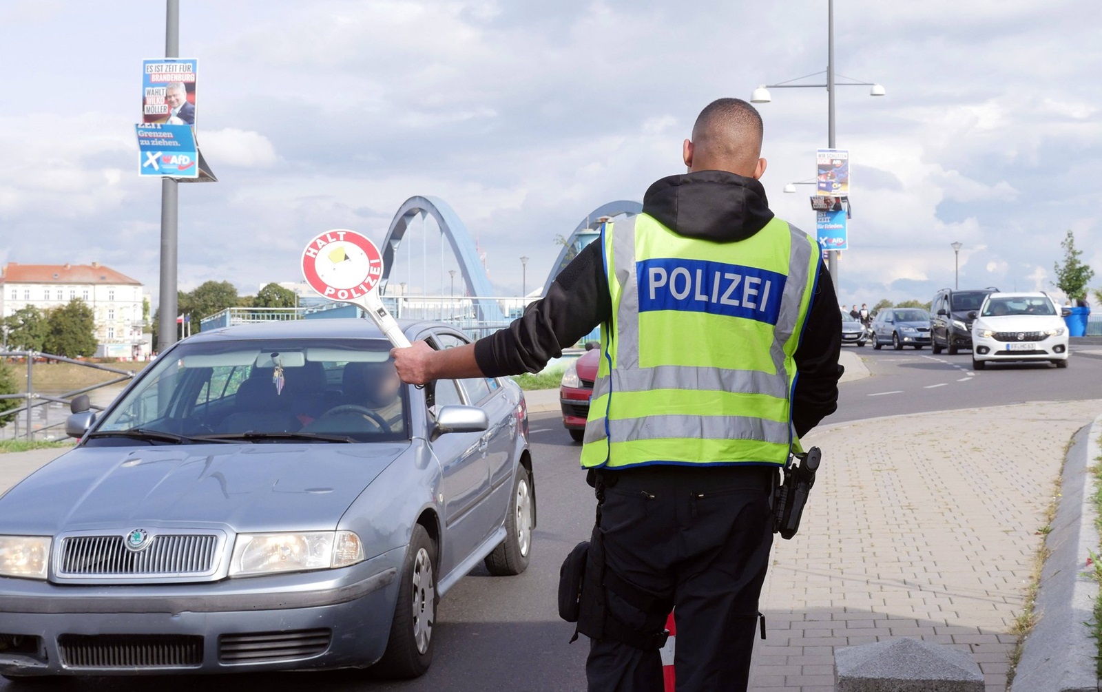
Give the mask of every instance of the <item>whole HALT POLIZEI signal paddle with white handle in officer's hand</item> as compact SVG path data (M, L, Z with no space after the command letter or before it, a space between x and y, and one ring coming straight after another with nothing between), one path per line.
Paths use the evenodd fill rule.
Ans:
M363 307L395 346L410 345L379 299L382 255L366 237L346 228L318 234L302 251L302 277L321 296Z

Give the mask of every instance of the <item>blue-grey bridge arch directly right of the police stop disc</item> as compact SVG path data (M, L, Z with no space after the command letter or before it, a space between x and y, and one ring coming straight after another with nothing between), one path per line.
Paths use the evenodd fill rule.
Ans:
M478 250L475 248L471 233L466 225L460 219L455 210L440 197L414 196L410 197L398 207L390 228L387 229L387 237L379 248L382 251L382 280L383 288L390 281L390 269L395 264L397 248L401 245L410 221L420 215L432 216L440 226L441 233L447 237L452 246L452 252L458 261L460 271L463 274L463 285L469 298L491 299L494 286L490 285L486 269L478 260ZM505 315L501 307L495 300L477 300L475 305L478 311L480 322L503 323Z

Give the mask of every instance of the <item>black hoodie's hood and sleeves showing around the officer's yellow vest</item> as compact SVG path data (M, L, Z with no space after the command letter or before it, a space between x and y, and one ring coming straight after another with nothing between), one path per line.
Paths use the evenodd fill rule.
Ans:
M774 217L761 183L722 171L671 175L642 198L642 212L688 238L734 242L749 238ZM475 344L475 359L487 377L538 372L562 348L612 316L612 299L599 242L586 246L555 278L543 299L523 316ZM838 408L838 364L842 322L827 268L820 263L803 340L796 350L799 377L792 421L803 435Z

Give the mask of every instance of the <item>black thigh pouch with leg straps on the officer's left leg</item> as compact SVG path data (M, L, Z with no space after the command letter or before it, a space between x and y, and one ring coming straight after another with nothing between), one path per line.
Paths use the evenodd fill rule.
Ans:
M672 604L625 582L606 569L601 505L605 500L606 482L615 484L615 476L608 478L608 474L591 469L586 480L594 487L597 497L596 523L590 540L575 545L559 570L559 616L568 623L577 623L571 641L582 634L590 639L613 639L645 651L661 649L669 638L667 629L652 632L634 629L608 612L605 590L648 614L665 616Z

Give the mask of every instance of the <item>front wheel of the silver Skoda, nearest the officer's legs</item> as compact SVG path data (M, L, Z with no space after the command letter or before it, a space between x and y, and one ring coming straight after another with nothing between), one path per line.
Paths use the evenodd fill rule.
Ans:
M436 625L436 545L429 532L413 525L406 551L395 619L387 650L371 672L381 678L417 678L432 663L433 628Z

